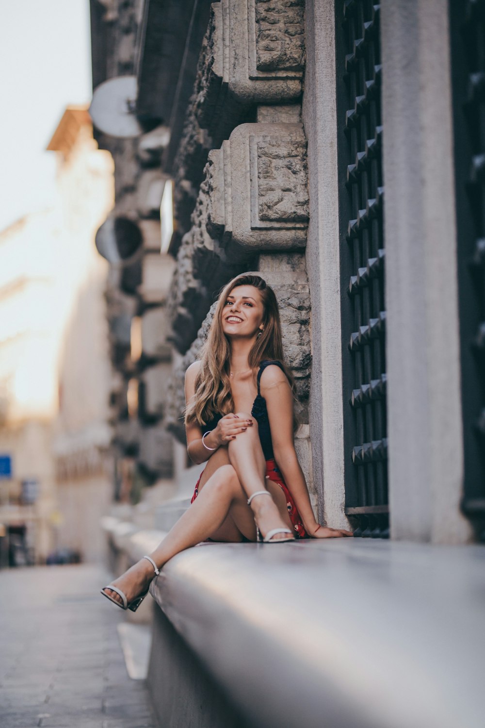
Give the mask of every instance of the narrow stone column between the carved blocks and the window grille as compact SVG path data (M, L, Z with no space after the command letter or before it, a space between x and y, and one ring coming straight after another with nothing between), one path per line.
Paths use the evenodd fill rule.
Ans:
M312 309L313 373L309 416L318 516L348 528L343 508L344 448L340 248L337 178L335 11L332 0L305 9L306 71L302 118L308 140L310 221L306 269Z

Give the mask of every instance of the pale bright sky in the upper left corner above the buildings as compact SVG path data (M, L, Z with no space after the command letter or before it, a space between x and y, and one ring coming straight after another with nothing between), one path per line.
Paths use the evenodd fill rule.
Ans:
M65 107L89 103L89 0L0 0L0 231L55 201Z

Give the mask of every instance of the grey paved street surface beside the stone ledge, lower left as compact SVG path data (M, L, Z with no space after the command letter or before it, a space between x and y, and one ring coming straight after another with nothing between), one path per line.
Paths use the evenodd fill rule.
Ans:
M0 571L1 728L156 728L97 566Z

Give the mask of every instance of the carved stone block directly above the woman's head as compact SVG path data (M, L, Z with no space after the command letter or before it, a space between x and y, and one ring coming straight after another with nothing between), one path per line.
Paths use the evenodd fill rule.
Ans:
M209 154L209 230L245 250L306 244L308 170L301 124L241 124Z

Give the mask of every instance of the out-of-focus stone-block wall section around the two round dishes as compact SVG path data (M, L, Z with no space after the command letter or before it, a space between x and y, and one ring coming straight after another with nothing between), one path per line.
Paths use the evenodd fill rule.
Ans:
M95 87L131 73L142 10L142 2L92 4ZM107 110L110 116L110 104ZM121 115L123 122L127 114ZM96 235L98 250L110 262L106 301L116 371L111 389L113 496L117 502L137 503L144 488L157 484L150 496L157 492L163 500L172 494L174 462L173 438L162 424L172 371L167 298L175 268L168 245L161 252L161 202L171 189L160 166L167 130L151 123L135 138L115 138L95 127L95 138L113 157L115 179L113 210Z

